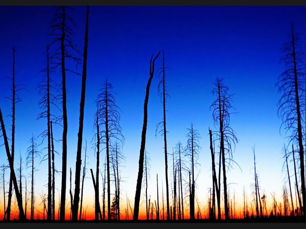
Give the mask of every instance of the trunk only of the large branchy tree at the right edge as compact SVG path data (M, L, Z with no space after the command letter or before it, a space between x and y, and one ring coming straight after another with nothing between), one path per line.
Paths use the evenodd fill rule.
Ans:
M299 146L299 156L300 156L300 176L301 176L301 192L302 192L302 214L305 215L305 172L304 172L304 147L303 147L303 136L302 136L302 124L301 124L301 110L300 101L298 94L298 81L297 81L297 63L296 63L296 53L295 53L295 38L292 25L292 48L293 48L293 64L294 64L294 86L295 86L295 101L296 101L296 115L297 115L297 139Z

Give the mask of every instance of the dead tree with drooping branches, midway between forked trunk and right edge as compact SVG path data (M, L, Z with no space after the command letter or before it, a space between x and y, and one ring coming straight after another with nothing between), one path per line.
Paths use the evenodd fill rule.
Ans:
M213 89L213 95L217 98L212 103L213 108L213 120L215 127L218 128L216 131L217 140L219 141L220 147L220 159L222 156L222 173L223 173L223 191L224 191L224 214L225 219L229 218L228 214L228 200L227 200L227 181L226 181L226 167L231 166L233 162L233 150L232 145L235 146L238 142L235 131L230 127L230 115L232 115L232 96L228 93L228 87L223 84L223 79L216 78L214 82L215 88ZM225 155L227 158L225 158ZM225 160L229 160L227 165ZM220 166L220 165L219 165ZM220 171L220 170L219 170ZM220 182L220 177L219 177ZM220 183L219 183L220 188Z

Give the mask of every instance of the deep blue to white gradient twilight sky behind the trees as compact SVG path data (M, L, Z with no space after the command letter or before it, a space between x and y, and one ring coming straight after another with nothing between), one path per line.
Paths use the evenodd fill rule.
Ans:
M68 12L77 25L74 28L73 41L83 51L86 7L74 7ZM16 104L17 165L19 152L25 161L24 155L32 134L39 135L46 126L45 120L36 121L40 112L40 96L36 87L42 80L40 70L44 68L44 49L50 41L47 36L48 24L53 13L52 7L0 7L0 107L5 116L8 135L11 134L11 118L8 117L11 103L5 97L11 95L9 77L12 74L13 46L17 50L16 83L24 84L26 89L18 93L22 101ZM285 135L279 133L281 120L277 117L277 101L280 95L274 84L278 75L284 71L284 64L279 59L292 22L296 31L301 34L304 50L305 7L91 6L83 132L83 139L87 139L88 143L88 173L84 190L88 212L94 206L89 168L95 170L91 140L94 134L94 101L98 90L108 77L116 92L117 105L121 109L120 124L125 137L123 154L126 158L122 163L124 167L121 168L124 180L121 209L124 211L125 193L130 198L131 206L134 206L149 59L159 50L165 50L165 65L170 68L166 75L167 90L171 96L167 100L169 153L178 141L186 145L187 128L191 123L201 135L198 160L200 166L196 180L196 195L201 211L207 207L212 183L208 128L215 130L210 105L215 99L212 90L216 77L224 78L229 93L234 94L233 106L237 111L231 117L231 126L239 140L233 157L242 171L234 164L228 171L227 178L230 194L235 191L236 209L239 211L241 203L243 204L243 187L251 199L254 145L260 186L268 196L267 203L272 203L270 193L273 192L281 200L283 179L286 176L282 172L282 147L287 141ZM157 68L161 66L161 61L161 58L157 60ZM81 73L81 67L77 71ZM60 82L59 71L52 77ZM158 81L158 76L155 75L150 88L146 134L146 150L151 158L151 199L156 199L156 174L159 175L160 191L161 181L165 182L163 138L155 137L156 124L162 120L163 115L157 94ZM69 168L74 171L77 151L81 76L67 74L67 90L69 176ZM60 139L62 128L54 128L55 138ZM0 142L3 142L3 138ZM45 146L46 144L39 148L43 149ZM56 144L56 150L61 153L60 142ZM0 164L4 164L7 157L3 146L0 147L0 152ZM42 154L46 154L46 151ZM101 155L101 158L104 157L105 152ZM56 155L55 160L56 168L60 170L61 154ZM40 202L39 195L42 192L47 193L47 161L38 163L39 161L35 175L35 192ZM170 169L169 163L169 175ZM24 173L29 172L27 170ZM74 172L72 177L74 178ZM61 176L57 175L56 186L59 189L60 181ZM68 211L69 177L67 181ZM58 198L58 192L56 193ZM0 199L0 209L3 209L3 199ZM141 209L143 207L144 205Z

